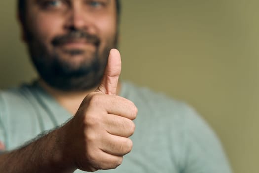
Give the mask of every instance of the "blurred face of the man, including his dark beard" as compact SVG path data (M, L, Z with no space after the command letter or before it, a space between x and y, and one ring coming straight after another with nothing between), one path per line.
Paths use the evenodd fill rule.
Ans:
M40 76L61 90L99 84L116 47L115 0L27 0L24 34Z

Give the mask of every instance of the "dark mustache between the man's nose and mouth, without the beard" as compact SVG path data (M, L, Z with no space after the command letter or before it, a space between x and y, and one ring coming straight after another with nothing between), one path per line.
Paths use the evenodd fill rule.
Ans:
M73 31L69 31L69 33L65 35L56 36L52 40L52 44L54 46L59 46L78 39L84 39L86 43L91 43L91 44L94 44L95 46L99 46L100 44L99 37L97 37L96 35L89 34L88 32L85 32L82 30L73 30Z

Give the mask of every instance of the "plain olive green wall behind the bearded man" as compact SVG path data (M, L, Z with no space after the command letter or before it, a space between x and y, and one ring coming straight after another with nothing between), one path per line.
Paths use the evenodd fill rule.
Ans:
M258 173L259 1L122 2L122 79L193 105L218 134L233 171ZM20 40L15 0L1 0L0 13L6 88L36 73Z

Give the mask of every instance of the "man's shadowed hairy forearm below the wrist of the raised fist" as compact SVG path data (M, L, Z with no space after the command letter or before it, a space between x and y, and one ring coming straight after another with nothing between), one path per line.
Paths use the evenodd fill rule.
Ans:
M20 149L0 155L0 173L72 173L75 168L64 155L61 131L54 130Z

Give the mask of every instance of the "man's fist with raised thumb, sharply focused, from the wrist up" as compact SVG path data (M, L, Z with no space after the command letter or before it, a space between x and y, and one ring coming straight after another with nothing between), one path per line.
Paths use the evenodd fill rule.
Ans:
M65 125L69 127L66 143L78 169L116 168L132 149L129 137L135 130L132 120L136 118L137 108L133 102L116 95L120 72L120 54L112 49L100 86L87 95Z

